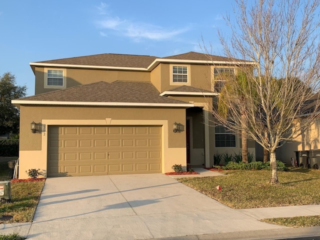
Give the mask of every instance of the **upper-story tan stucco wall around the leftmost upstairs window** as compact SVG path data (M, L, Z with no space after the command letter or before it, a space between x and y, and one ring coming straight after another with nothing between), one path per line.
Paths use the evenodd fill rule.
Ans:
M50 68L48 68L50 69ZM54 68L58 69L58 68ZM61 68L66 75L66 87L88 84L97 81L116 80L150 81L150 72L129 70ZM56 90L44 88L44 67L35 67L35 94Z

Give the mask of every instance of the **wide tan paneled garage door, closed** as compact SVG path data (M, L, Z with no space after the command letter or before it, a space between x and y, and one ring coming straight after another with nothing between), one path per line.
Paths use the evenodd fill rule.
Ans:
M47 176L161 172L161 126L47 129Z

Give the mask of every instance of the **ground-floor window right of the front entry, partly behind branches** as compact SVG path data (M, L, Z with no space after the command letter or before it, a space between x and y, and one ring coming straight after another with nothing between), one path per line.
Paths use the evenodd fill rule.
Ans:
M215 147L235 147L235 133L224 126L215 125Z

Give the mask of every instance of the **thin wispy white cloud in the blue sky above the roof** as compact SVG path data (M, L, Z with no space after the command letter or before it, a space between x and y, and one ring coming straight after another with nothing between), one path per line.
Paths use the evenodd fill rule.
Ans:
M162 26L134 22L132 20L120 19L117 16L112 16L107 14L107 5L103 2L96 7L99 12L104 12L102 19L96 21L96 26L101 30L113 30L117 34L121 34L126 37L130 37L135 41L140 41L142 39L150 40L166 40L177 37L179 34L189 30L189 27L182 27L178 29L167 29ZM99 13L102 15L101 13ZM103 34L106 35L105 31ZM102 35L102 34L101 34ZM104 36L104 35L103 35Z

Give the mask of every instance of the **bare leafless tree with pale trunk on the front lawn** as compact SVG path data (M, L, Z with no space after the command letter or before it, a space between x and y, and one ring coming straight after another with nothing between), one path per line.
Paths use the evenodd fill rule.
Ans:
M243 131L245 126L248 137L269 152L272 183L278 182L276 148L318 117L319 3L235 0L235 22L225 17L231 37L218 32L226 56L239 63L237 70L245 73L249 87L230 83L231 90L223 96L228 118L216 109L212 114L234 131ZM245 67L237 59L256 64ZM309 103L311 107L306 106Z

